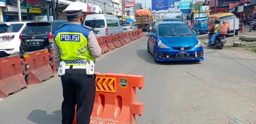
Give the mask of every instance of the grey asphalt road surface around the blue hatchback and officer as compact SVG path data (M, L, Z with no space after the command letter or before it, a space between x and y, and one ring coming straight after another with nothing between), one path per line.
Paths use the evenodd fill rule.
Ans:
M144 32L145 34L147 32ZM144 76L136 101L144 103L137 124L256 124L256 53L204 45L204 59L155 63L147 37L96 59L96 71ZM55 76L0 101L1 124L59 124L62 87Z

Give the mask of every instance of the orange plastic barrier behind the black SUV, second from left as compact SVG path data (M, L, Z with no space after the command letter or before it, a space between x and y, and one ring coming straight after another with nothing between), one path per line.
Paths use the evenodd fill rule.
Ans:
M42 83L54 77L50 67L52 61L49 61L49 54L47 49L23 54L24 61L27 62L23 65L25 65L25 70L29 72L25 76L28 85Z

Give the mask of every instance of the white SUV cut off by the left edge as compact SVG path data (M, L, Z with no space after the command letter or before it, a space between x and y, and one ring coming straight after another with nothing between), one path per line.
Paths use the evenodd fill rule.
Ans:
M0 22L0 57L20 53L20 33L26 23L33 21Z

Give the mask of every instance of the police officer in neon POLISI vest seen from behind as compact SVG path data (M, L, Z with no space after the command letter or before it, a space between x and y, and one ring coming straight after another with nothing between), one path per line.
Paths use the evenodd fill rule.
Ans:
M101 55L101 48L92 28L82 25L83 5L82 2L73 2L63 10L69 24L62 25L54 33L55 64L60 67L61 61L66 63L65 74L61 76L62 124L72 124L76 104L77 123L89 124L94 104L96 76L86 73L86 64Z

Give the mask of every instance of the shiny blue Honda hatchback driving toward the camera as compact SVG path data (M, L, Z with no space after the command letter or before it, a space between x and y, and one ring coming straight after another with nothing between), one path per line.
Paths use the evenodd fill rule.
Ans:
M148 37L148 52L154 61L201 61L203 47L197 33L183 22L157 22Z

